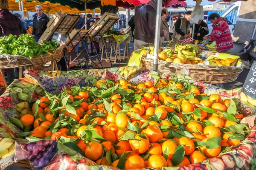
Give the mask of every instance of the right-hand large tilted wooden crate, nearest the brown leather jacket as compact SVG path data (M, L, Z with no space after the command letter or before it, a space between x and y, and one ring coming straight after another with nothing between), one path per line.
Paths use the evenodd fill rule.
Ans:
M91 37L95 37L97 34L105 34L109 28L111 28L119 17L116 14L105 12L102 17L88 30Z

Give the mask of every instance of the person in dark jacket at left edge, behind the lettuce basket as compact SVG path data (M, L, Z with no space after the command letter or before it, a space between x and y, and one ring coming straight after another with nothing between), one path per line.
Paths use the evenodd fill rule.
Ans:
M8 0L1 0L0 3L0 37L9 36L10 34L20 36L22 26L20 19L8 10ZM12 83L15 78L19 77L18 68L7 68L8 83Z

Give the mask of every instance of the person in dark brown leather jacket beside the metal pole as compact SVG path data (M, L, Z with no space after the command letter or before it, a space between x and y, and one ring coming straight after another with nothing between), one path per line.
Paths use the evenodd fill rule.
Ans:
M165 3L165 0L162 1ZM134 50L141 45L153 44L155 39L157 17L157 0L151 0L141 7L135 16ZM160 30L160 37L166 36L167 31Z

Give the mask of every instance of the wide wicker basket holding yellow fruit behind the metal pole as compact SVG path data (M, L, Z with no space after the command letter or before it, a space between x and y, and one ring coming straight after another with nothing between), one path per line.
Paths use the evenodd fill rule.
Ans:
M149 70L153 69L153 59L143 57L141 59L143 67ZM180 71L185 68L189 70L189 77L201 82L210 84L219 84L233 82L243 71L244 65L241 67L232 66L217 66L217 65L192 65L179 64L158 60L158 70L160 73L175 73L180 74Z

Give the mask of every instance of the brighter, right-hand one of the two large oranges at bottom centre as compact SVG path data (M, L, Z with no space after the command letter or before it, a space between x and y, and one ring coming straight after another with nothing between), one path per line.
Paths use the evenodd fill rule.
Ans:
M151 155L148 158L148 167L153 167L153 168L167 167L167 161L161 155Z

